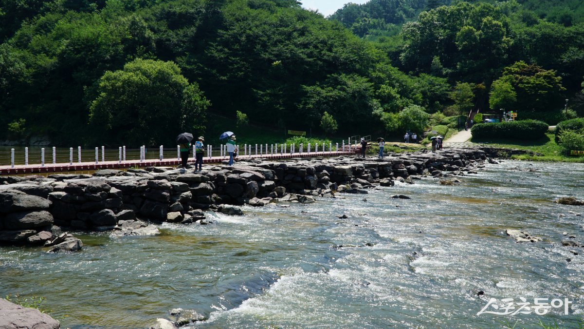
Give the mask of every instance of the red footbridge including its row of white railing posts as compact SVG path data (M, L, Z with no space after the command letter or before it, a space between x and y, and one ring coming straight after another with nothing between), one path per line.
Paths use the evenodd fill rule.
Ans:
M123 169L152 166L180 165L180 152L177 148L126 149L77 149L69 148L24 148L18 151L0 152L0 175L8 174L35 174L58 172L82 172L100 169ZM329 145L240 145L238 159L262 158L269 160L291 159L297 157L331 157L353 155L361 150L359 145L350 145L345 142ZM193 150L194 151L194 150ZM190 152L189 162L194 162L194 152ZM222 163L229 160L225 146L207 146L204 152L203 163Z

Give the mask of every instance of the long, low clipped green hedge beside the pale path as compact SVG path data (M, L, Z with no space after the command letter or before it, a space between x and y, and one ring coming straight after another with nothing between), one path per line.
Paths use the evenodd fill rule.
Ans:
M512 139L538 139L545 136L548 124L537 120L522 120L509 122L493 122L488 124L475 124L471 128L472 137L485 138L512 138Z

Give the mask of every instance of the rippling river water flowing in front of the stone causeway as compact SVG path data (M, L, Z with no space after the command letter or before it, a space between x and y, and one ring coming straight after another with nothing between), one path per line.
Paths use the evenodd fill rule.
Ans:
M0 295L46 297L64 328L148 327L178 307L207 316L191 325L203 328L578 327L584 250L561 241L584 244L584 208L552 201L584 198L582 177L583 164L508 161L455 186L208 213L217 224L163 224L158 237L79 235L77 253L1 247ZM516 243L507 228L544 241ZM478 314L490 298L572 304Z

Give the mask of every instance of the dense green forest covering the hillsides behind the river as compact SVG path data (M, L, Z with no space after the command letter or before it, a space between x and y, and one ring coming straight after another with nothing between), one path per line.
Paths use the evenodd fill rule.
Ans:
M555 124L582 116L583 8L0 0L0 139L159 145L210 114L305 131L326 117L343 135L500 108Z

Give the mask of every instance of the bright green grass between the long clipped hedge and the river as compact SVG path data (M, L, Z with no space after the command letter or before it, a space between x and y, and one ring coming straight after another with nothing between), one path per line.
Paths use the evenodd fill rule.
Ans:
M537 155L515 155L517 160L551 161L551 162L579 162L584 163L584 156L566 156L562 148L555 142L554 133L546 133L544 138L537 140L509 140L509 139L475 139L471 142L498 148L531 150Z

